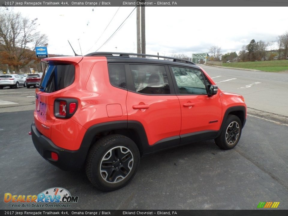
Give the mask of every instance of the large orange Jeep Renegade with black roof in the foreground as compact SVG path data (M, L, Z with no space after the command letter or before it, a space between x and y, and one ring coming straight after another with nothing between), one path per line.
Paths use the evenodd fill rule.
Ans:
M84 167L100 190L128 184L142 155L209 139L233 149L246 122L244 98L191 61L95 52L41 62L35 148L63 170Z

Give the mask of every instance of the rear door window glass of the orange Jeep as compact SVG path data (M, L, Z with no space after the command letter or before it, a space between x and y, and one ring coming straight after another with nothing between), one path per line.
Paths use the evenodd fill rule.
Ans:
M135 91L143 94L170 94L167 73L162 65L130 64Z

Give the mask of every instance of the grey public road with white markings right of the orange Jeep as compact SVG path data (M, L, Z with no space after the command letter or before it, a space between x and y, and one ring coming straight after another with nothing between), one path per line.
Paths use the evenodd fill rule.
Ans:
M199 66L221 90L243 95L248 107L288 116L288 73Z

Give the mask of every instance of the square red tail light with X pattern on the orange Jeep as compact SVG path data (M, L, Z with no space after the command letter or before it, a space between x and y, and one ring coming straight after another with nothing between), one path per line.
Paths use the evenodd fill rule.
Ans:
M54 101L54 116L69 119L78 108L78 101L74 98L57 98Z

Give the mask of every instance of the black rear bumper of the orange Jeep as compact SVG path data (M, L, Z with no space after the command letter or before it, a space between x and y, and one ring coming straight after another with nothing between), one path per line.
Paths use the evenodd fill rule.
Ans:
M37 130L34 122L31 125L31 132L36 150L49 163L59 167L61 170L80 170L84 166L88 149L80 148L77 151L70 151L59 148ZM51 158L51 152L58 154L57 161Z

